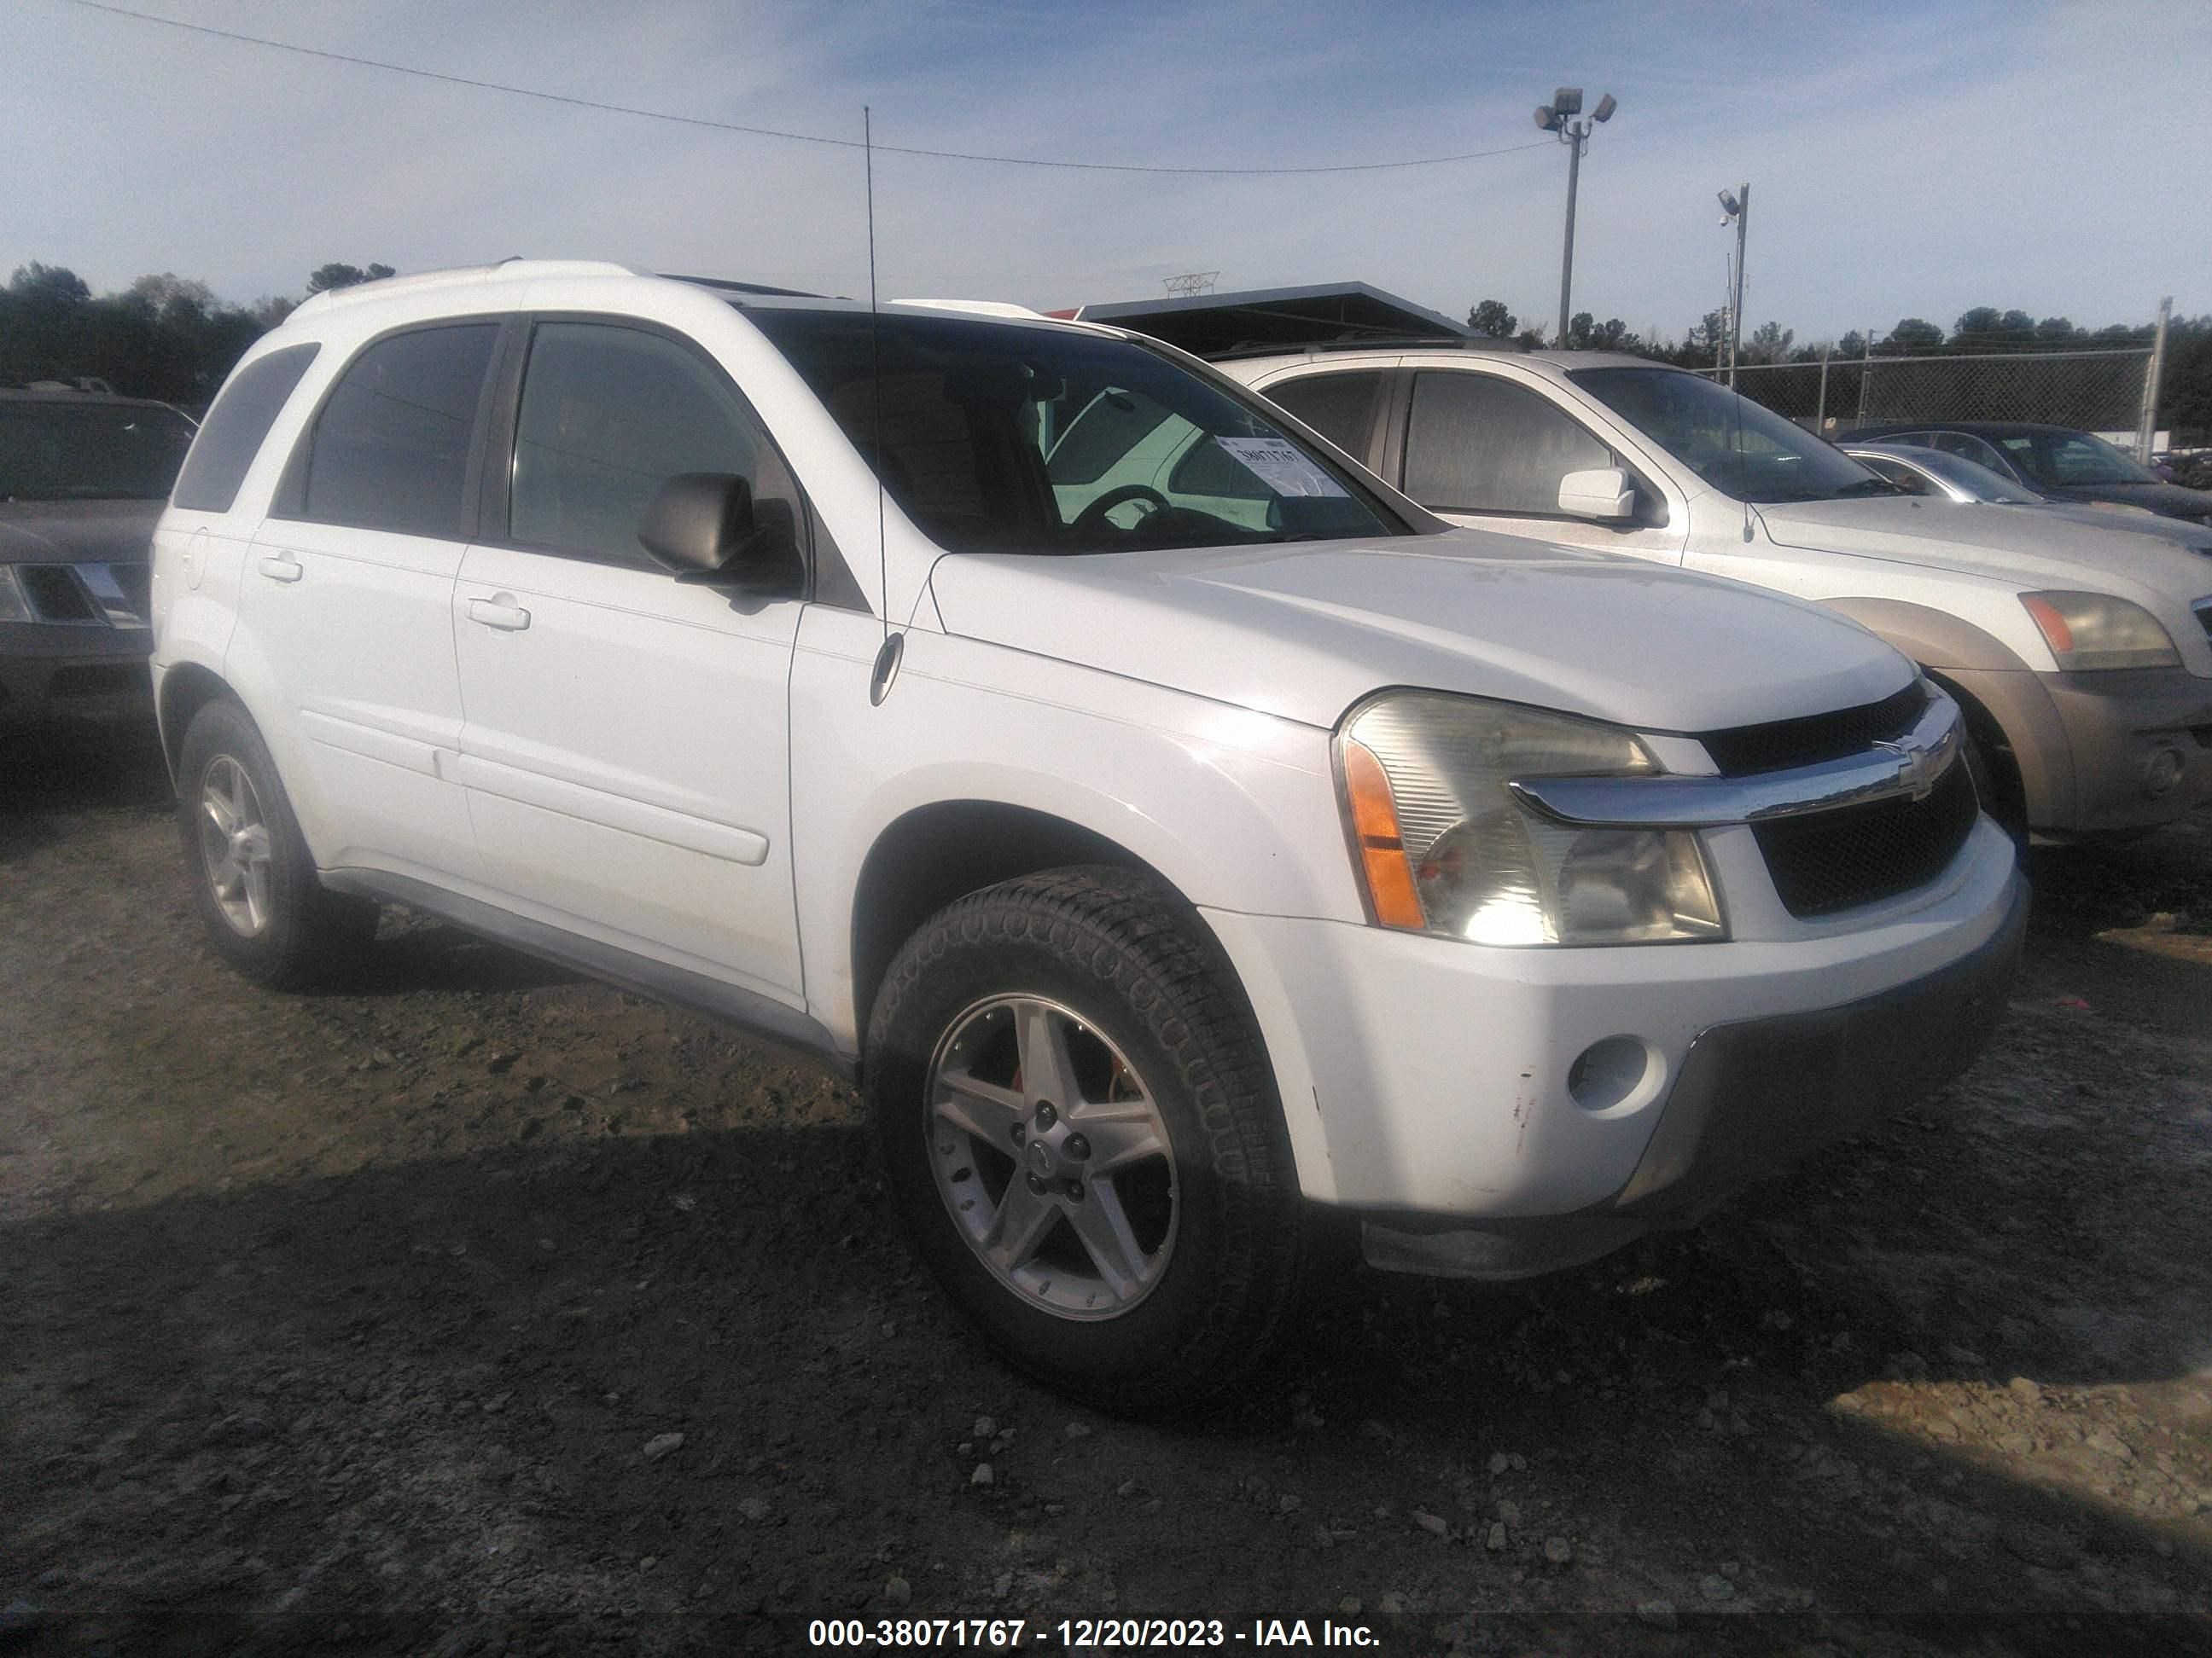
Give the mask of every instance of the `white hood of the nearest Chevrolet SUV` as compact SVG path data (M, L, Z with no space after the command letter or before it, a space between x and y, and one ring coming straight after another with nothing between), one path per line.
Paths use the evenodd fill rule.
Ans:
M1385 685L1650 732L1874 703L1913 676L1809 604L1484 531L1387 542L938 559L945 628L1332 727Z

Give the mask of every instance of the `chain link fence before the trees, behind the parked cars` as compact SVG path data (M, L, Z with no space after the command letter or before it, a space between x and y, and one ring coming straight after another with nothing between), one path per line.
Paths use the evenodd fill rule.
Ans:
M2148 380L2148 349L1736 365L1736 391L1825 438L1887 420L2042 420L2132 444Z

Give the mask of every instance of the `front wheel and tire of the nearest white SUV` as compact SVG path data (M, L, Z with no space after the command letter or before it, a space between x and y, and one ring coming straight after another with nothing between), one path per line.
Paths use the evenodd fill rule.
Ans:
M1290 1136L1177 893L1082 867L938 911L885 975L865 1090L918 1251L1011 1364L1168 1415L1265 1362L1305 1251Z

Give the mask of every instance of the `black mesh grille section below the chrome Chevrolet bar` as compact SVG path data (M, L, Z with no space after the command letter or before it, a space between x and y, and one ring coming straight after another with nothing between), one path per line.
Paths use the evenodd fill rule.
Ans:
M1832 915L1936 880L1966 844L1980 805L1964 760L1924 800L1896 796L1805 818L1752 825L1783 906Z

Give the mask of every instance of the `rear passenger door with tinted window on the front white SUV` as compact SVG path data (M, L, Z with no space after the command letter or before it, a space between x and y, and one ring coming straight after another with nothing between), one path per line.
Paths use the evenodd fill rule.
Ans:
M279 765L305 774L323 867L471 880L453 760L453 579L504 323L407 327L338 374L246 557L232 652L276 688ZM319 842L319 844L316 844Z

